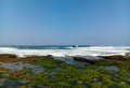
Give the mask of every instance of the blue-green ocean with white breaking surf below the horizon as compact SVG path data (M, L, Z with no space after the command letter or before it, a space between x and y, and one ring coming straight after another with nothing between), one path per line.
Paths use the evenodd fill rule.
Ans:
M91 46L91 45L6 45L0 46L0 54L15 54L18 57L46 56L110 56L125 55L130 46Z

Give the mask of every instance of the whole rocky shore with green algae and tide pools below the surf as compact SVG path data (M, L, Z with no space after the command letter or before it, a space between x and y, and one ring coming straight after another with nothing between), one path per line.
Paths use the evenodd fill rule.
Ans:
M1 88L129 88L130 57L72 57L82 67L53 56L20 58L0 54ZM82 64L82 63L80 63Z

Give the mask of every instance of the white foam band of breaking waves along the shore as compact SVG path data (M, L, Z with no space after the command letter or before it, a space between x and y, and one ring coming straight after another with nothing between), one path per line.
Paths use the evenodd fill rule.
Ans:
M73 49L17 49L13 47L0 47L0 54L15 54L18 57L25 56L46 56L52 55L55 57L65 56L110 56L125 55L129 47L112 47L112 46L95 46L95 47L76 47Z

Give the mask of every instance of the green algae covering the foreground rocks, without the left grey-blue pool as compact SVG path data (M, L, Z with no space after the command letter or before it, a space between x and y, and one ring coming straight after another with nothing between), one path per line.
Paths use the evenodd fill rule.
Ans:
M15 83L15 88L129 88L130 60L92 60L84 67L68 64L64 61L48 56L34 56L26 58L12 58L1 62L23 62L34 65L42 65L46 69L35 73L29 68L12 72L1 68L0 78ZM99 68L103 67L103 68ZM105 67L105 68L104 68ZM109 68L110 67L110 68ZM113 67L116 67L116 72ZM117 70L118 68L118 70ZM8 75L3 75L8 74ZM13 79L13 80L12 80ZM16 82L17 83L17 82ZM6 87L1 84L1 87ZM12 86L11 86L12 87Z

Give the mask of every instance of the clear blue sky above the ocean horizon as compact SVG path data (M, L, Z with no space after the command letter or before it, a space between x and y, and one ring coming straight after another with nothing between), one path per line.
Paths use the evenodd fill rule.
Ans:
M0 0L2 45L130 45L130 0Z

